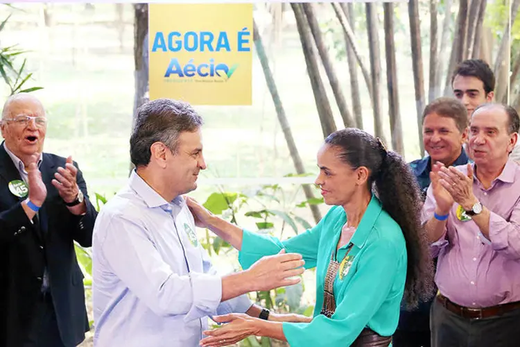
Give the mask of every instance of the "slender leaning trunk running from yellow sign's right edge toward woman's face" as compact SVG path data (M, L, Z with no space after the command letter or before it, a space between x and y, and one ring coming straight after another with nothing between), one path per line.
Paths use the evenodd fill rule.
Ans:
M291 131L291 126L289 126L289 122L285 114L284 106L281 104L281 99L278 94L278 88L275 83L275 78L272 76L272 71L269 67L269 59L266 55L266 50L263 47L262 38L258 32L256 22L253 22L253 26L254 47L257 50L257 55L262 65L263 75L266 77L266 83L269 92L272 96L272 102L275 104L276 114L278 116L278 121L280 122L281 131L284 133L289 153L291 154L291 158L293 158L296 173L304 174L304 164L302 162L302 158L300 158L300 153L298 153L293 133ZM302 187L307 200L314 198L314 194L309 185L302 185ZM320 221L320 219L322 218L318 206L309 205L309 207L311 208L315 223L318 223L318 221Z

